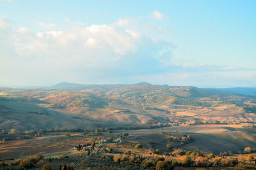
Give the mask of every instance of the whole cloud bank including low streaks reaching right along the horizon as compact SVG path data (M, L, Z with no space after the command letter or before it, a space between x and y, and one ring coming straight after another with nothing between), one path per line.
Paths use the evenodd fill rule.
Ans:
M1 16L2 85L148 81L216 87L255 83L255 70L173 62L172 52L179 46L173 45L172 30L152 22L166 18L154 11L150 18L118 18L108 25L68 20L65 30L58 29L58 24L40 22L35 31L26 25L14 29L12 22Z

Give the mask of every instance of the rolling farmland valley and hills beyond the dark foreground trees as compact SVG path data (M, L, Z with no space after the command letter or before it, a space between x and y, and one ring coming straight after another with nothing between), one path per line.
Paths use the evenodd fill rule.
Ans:
M0 159L17 167L12 162L42 154L55 168L65 162L75 169L151 169L140 161L164 157L184 166L189 152L230 159L250 147L254 154L255 122L256 98L230 91L145 83L1 88ZM84 143L93 148L76 150ZM145 159L127 164L119 158L121 166L116 157L122 155ZM108 163L95 167L96 160ZM207 161L214 166L214 159Z

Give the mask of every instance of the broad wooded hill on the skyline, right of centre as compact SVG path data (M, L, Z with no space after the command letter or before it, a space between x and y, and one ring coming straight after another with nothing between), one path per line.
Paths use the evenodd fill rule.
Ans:
M132 104L188 104L200 105L200 97L230 97L239 95L215 89L197 87L165 87L162 85L129 85L106 92L106 97L118 99Z

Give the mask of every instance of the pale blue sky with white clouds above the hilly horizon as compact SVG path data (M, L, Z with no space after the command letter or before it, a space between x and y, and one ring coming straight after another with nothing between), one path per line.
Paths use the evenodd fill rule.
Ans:
M0 86L256 87L256 1L0 0Z

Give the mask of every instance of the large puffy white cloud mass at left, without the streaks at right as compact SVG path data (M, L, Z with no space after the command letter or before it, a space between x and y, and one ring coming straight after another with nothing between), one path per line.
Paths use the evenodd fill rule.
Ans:
M68 80L111 82L123 79L115 74L151 72L161 64L163 56L156 55L165 45L133 19L86 27L83 23L69 24L65 31L32 32L26 27L0 30L5 39L0 41L4 46L0 47L3 79L31 84ZM10 67L15 69L10 71Z

